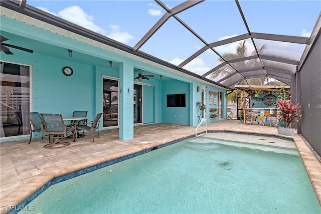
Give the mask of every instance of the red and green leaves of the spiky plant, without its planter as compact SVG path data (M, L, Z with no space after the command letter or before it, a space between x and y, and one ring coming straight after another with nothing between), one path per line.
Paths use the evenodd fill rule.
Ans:
M285 128L291 128L291 124L296 121L298 118L302 117L302 106L299 104L293 105L290 100L280 100L278 101L280 107L280 120L285 124Z

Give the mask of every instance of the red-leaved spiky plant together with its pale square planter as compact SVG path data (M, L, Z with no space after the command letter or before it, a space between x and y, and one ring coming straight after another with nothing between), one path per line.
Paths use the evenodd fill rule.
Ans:
M293 122L298 122L298 118L302 117L302 109L299 104L294 105L290 100L280 100L278 101L280 108L279 120L283 121L285 127L277 127L277 133L294 136L294 128L291 128Z

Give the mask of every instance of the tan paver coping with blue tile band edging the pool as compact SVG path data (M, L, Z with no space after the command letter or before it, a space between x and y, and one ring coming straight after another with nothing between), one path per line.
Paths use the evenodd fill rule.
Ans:
M321 181L318 179L318 175L321 174L321 164L318 164L316 161L316 157L302 139L300 135L295 135L293 137L288 137L279 134L261 134L251 131L231 131L231 130L208 130L211 132L226 132L226 133L238 133L238 134L249 134L256 136L269 136L269 137L277 137L280 139L288 139L292 140L295 143L295 146L300 154L303 165L306 169L306 172L309 176L315 194L319 203L321 204ZM205 133L205 132L200 132ZM199 133L199 134L200 134ZM32 180L25 183L24 185L18 187L12 194L10 195L11 201L6 200L6 196L2 198L2 204L17 204L17 206L12 206L12 209L7 213L17 213L19 209L28 207L29 204L34 198L36 198L41 192L46 190L53 184L59 183L61 181L70 179L72 177L79 176L84 173L88 173L90 171L94 171L96 169L105 167L107 165L114 164L116 162L120 162L125 159L129 159L131 157L135 157L137 155L141 155L143 153L147 153L154 149L162 148L177 142L180 142L185 139L189 139L195 137L195 135L188 135L182 138L182 136L178 136L177 139L172 141L157 141L154 143L142 144L137 146L136 148L130 148L121 152L113 153L112 155L107 155L100 158L94 158L92 161L81 163L81 164L73 164L62 167L60 169L52 170L50 172L43 172L37 176L35 176ZM319 169L319 170L316 170ZM15 196L15 201L12 201L13 194ZM9 198L8 198L9 199ZM6 211L2 210L2 213L6 213Z

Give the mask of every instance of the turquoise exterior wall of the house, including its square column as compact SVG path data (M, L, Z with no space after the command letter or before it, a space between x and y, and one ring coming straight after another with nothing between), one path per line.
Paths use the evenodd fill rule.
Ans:
M73 111L88 111L87 118L92 120L96 113L103 112L103 77L119 79L122 89L119 97L119 129L120 139L133 138L133 69L139 68L156 75L163 75L170 80L150 79L143 81L143 124L144 123L177 123L184 125L198 125L200 110L196 102L201 102L197 86L206 85L209 90L221 90L225 97L225 90L211 84L189 78L186 75L174 73L146 64L130 57L122 56L103 50L84 42L76 41L54 34L35 26L16 20L1 17L2 35L22 38L18 46L29 45L50 48L43 52L27 53L15 50L14 55L1 52L1 60L26 64L31 67L31 106L30 111L40 113L60 113L71 116ZM68 57L68 49L74 50L73 56ZM61 56L59 53L64 53ZM119 64L119 69L110 68L108 61ZM105 66L101 62L106 62ZM72 76L65 76L62 68L69 66L73 69ZM129 93L127 92L129 88ZM167 107L167 94L186 94L186 107ZM208 94L206 93L206 100ZM226 99L223 100L226 109ZM226 112L226 110L223 110ZM176 117L175 117L176 115ZM207 115L208 117L208 115ZM226 118L224 114L223 118ZM215 122L211 119L209 122ZM99 129L103 128L100 123ZM35 133L36 137L39 136ZM27 139L29 136L22 136ZM17 138L14 138L15 140ZM2 142L13 139L2 139Z

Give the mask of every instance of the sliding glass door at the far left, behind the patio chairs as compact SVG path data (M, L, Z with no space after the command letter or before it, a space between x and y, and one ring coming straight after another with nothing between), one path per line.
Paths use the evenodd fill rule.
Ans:
M29 134L30 67L1 62L0 137Z

